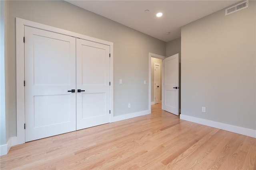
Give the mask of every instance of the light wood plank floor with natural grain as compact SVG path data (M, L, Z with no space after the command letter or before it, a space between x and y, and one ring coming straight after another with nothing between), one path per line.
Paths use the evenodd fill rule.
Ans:
M14 146L2 169L256 170L256 139L152 114Z

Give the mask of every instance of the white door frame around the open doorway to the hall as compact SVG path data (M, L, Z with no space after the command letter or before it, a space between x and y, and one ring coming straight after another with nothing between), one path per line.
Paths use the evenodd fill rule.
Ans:
M151 113L151 57L161 59L161 60L166 58L165 56L162 56L162 55L148 53L148 109L150 113ZM163 87L163 83L162 83L162 87ZM162 92L162 95L163 95L163 92ZM163 106L163 101L162 101L162 106Z

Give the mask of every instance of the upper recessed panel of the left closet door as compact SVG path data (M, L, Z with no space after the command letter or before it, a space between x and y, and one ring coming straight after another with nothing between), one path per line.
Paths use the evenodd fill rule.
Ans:
M70 64L72 62L70 62L68 50L64 50L70 49L70 42L40 35L34 35L33 39L34 84L37 86L70 85ZM46 66L47 70L54 71L42 71L46 70ZM58 66L58 69L56 69L56 66Z

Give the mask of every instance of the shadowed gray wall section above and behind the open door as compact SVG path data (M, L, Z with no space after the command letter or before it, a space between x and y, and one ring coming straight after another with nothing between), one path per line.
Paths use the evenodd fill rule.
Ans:
M181 61L181 38L176 38L172 41L168 41L166 43L166 57L170 57L172 55L175 55L179 53L180 61ZM181 108L181 63L179 68L179 108Z

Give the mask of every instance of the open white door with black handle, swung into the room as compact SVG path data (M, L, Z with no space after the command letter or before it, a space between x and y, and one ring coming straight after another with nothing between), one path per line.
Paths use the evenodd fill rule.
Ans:
M163 61L163 110L179 115L179 54Z

